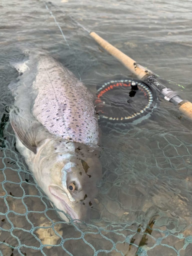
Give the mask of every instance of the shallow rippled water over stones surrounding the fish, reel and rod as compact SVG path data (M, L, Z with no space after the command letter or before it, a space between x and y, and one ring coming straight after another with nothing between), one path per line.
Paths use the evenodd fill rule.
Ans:
M56 57L94 94L104 80L132 77L69 15L192 101L191 1L64 0L47 6L67 43L43 1L0 4L1 255L191 255L191 122L173 104L159 100L137 125L100 120L99 203L92 225L80 227L63 223L52 209L17 152L8 122L14 101L8 84L18 76L10 62L21 61L23 52Z

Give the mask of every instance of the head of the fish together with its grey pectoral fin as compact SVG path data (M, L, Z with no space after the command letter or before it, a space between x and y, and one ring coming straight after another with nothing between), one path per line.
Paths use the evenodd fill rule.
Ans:
M41 123L28 121L17 112L10 112L10 122L38 185L61 210L63 219L69 221L68 214L72 219L87 220L102 176L98 147L50 134Z

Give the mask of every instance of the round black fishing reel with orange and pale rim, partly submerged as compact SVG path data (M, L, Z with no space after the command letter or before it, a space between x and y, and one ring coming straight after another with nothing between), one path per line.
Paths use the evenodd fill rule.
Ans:
M95 109L100 120L127 123L150 113L155 101L153 88L141 80L126 78L98 85Z

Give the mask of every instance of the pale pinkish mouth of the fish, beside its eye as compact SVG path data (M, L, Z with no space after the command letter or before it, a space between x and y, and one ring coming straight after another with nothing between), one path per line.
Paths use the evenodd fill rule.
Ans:
M57 187L57 186L49 186L49 192L51 193L51 195L53 195L54 197L56 197L57 199L59 199L61 202L62 202L62 204L64 205L64 207L65 207L65 209L66 209L66 213L68 214L68 215L70 215L71 216L71 218L72 219L74 219L74 220L79 220L79 218L78 218L78 215L76 214L76 212L74 212L74 210L66 203L66 201L65 200L63 200L63 198L61 197L61 196L59 196L59 195L64 195L64 193L61 193L60 191L58 191L58 190L60 190L60 188L59 187ZM59 194L59 195L58 195ZM66 194L66 193L65 193ZM67 194L66 194L66 196L67 196ZM59 209L59 208L58 208ZM62 210L62 209L60 209L60 210ZM65 211L64 211L65 212ZM67 216L66 216L67 217Z

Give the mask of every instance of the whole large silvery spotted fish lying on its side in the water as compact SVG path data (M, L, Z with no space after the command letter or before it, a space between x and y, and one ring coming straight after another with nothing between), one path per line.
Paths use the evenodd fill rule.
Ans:
M35 60L10 110L16 147L60 217L87 221L102 177L93 95L55 58Z

